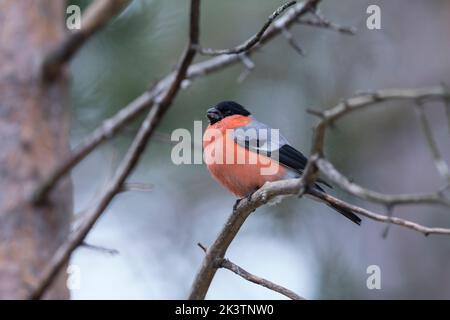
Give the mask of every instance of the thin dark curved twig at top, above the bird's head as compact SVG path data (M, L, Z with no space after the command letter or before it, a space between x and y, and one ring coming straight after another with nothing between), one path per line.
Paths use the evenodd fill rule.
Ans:
M282 14L287 8L292 7L294 4L296 4L297 1L290 1L288 3L283 4L280 6L277 10L275 10L267 19L266 23L263 25L263 27L250 37L247 41L244 43L231 48L231 49L210 49L210 48L198 48L198 51L200 54L203 55L210 55L210 56L217 56L221 54L238 54L245 51L248 51L253 46L257 45L258 42L261 40L262 36L264 35L264 32L269 28L269 26L272 24L272 22L280 15Z

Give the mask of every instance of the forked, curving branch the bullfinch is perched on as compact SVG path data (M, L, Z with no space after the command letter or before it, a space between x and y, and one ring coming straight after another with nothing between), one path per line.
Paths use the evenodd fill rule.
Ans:
M322 201L325 201L328 204L347 209L375 221L402 226L420 232L426 236L430 234L450 235L450 229L429 228L409 220L374 213L364 208L339 200L329 194L318 192L313 188L308 187L316 180L319 169L324 169L323 173L328 173L330 178L332 178L332 180L334 179L335 182L337 182L344 189L356 196L361 196L371 201L381 202L385 204L418 202L436 202L440 204L447 204L447 200L444 201L443 198L431 199L431 195L390 196L365 190L362 187L357 186L356 184L350 183L347 179L344 179L337 172L337 170L328 165L328 162L323 159L323 148L325 131L327 127L335 120L343 117L350 112L362 109L367 106L377 105L378 103L386 100L420 99L421 101L424 101L428 99L448 98L449 93L440 87L429 89L380 90L371 94L359 95L350 98L346 101L341 102L334 108L320 112L321 121L314 130L311 156L302 177L300 179L267 182L262 188L257 190L250 199L243 199L239 202L236 210L234 210L230 215L212 246L208 248L200 270L198 271L192 284L189 299L199 300L205 298L206 293L208 292L208 289L211 285L212 279L218 268L216 261L221 261L222 259L224 259L228 247L235 238L236 234L239 232L245 220L258 207L266 204L269 200L278 195L301 195L306 192L314 195L315 197L319 198Z

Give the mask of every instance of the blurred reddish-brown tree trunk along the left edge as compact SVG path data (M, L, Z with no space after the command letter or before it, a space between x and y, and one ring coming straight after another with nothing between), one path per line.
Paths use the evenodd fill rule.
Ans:
M65 1L0 1L0 298L26 295L67 237L72 212L68 179L48 203L31 190L69 152L64 77L40 81L40 62L64 35ZM68 298L65 272L46 295Z

